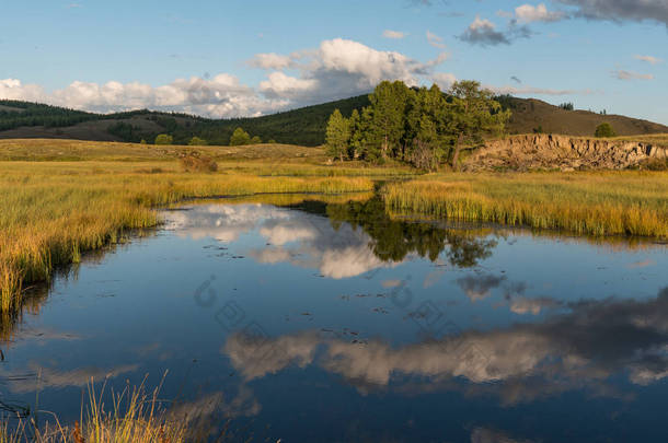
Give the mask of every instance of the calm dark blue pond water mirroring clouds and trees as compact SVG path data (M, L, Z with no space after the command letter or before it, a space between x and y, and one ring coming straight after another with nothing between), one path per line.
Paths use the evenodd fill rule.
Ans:
M668 441L664 245L391 221L377 200L165 218L14 325L7 409L38 392L74 420L91 377L169 371L161 397L231 440Z

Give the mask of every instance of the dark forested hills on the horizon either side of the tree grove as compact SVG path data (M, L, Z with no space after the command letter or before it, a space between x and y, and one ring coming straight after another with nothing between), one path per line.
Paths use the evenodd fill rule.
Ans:
M652 121L586 110L565 110L534 98L498 97L512 110L510 133L563 133L592 136L596 127L610 123L619 136L668 133L668 127ZM360 95L284 113L249 118L209 119L186 114L147 109L116 114L94 114L43 104L0 101L0 139L59 138L96 141L152 142L159 133L170 133L174 143L187 144L197 136L210 144L228 144L237 127L263 141L319 145L324 142L326 121L336 108L345 116L369 104Z

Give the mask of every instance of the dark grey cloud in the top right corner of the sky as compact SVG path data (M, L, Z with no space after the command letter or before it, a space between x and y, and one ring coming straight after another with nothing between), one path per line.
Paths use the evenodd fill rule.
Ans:
M575 14L589 20L654 21L668 26L666 0L555 0L575 8Z

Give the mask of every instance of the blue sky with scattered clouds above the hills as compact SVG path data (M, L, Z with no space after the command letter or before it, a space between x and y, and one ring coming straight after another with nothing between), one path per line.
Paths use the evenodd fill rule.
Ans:
M0 0L0 98L228 118L382 80L668 125L668 0Z

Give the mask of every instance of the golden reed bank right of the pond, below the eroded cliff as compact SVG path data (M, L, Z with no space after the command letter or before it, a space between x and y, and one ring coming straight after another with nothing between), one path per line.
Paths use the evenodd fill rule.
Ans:
M390 210L581 235L668 237L668 173L431 175L389 184Z

